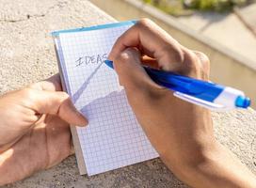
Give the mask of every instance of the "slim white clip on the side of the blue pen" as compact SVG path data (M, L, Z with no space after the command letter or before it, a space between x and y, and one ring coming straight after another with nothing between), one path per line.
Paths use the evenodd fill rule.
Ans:
M199 98L192 97L190 95L184 94L184 93L179 92L179 91L175 91L173 93L173 95L177 98L180 98L180 99L186 101L186 102L191 102L191 103L200 105L202 107L205 107L205 108L207 108L209 110L213 110L213 111L224 111L224 110L229 110L229 109L231 110L232 109L232 108L227 108L224 105L217 104L217 103L214 103L214 102L206 102L206 101L200 100Z

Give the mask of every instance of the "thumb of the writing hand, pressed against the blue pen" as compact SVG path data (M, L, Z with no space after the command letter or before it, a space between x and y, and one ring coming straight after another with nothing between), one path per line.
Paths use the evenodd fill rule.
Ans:
M135 48L127 48L113 60L119 75L120 85L130 93L145 93L157 86L141 66L141 55Z

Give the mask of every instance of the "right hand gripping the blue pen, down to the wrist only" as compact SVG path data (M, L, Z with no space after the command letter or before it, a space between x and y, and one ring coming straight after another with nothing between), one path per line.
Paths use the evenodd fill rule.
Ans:
M141 67L143 55L154 58L164 71L198 79L208 79L209 61L146 19L127 30L109 55L137 120L160 156L165 159L168 155L175 161L173 168L214 143L211 116L207 110L181 101L169 89L156 85Z

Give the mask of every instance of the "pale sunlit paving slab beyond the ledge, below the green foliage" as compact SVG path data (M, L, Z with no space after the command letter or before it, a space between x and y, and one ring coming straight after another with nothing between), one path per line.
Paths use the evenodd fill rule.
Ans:
M255 12L256 6L250 7L249 10L250 12ZM253 19L251 15L248 15L247 18ZM255 35L241 22L241 19L236 14L198 12L193 16L180 17L178 20L189 29L196 30L201 35L229 48L232 52L247 57L254 63L253 66L256 65L254 50L256 49ZM255 19L254 23L256 23Z

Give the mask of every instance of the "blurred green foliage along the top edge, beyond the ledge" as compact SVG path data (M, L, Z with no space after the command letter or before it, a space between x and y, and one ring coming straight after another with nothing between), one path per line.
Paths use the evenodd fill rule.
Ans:
M230 11L234 6L242 6L250 0L143 0L156 8L179 15L187 12L186 9L211 10L217 12Z

